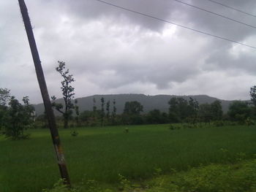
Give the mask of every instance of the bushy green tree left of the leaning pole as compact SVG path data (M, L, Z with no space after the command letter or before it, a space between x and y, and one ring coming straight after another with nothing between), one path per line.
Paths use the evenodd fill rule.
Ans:
M23 97L24 105L11 97L7 115L4 119L5 135L12 139L26 139L28 135L23 133L24 129L31 125L34 115L34 107L29 104L29 97Z

